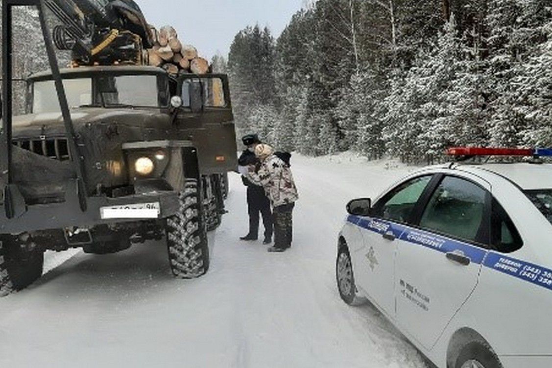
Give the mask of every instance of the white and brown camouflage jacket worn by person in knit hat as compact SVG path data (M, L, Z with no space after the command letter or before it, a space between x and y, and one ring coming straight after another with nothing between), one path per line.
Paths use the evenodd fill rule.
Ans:
M247 174L247 178L263 186L274 207L293 203L299 198L289 166L275 155L262 161L259 169Z

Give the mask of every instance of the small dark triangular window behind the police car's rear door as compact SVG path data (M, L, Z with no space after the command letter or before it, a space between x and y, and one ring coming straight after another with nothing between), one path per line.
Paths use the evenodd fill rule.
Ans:
M521 236L505 209L492 199L491 245L501 253L512 253L523 246Z

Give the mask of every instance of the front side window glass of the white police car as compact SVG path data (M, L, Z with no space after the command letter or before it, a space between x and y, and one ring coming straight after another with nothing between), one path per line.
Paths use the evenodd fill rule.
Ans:
M421 176L395 188L375 206L375 215L384 219L407 222L432 176Z

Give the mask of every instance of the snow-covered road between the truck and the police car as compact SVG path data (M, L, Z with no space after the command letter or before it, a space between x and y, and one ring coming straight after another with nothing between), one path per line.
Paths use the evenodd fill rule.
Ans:
M289 251L238 240L245 187L231 175L207 275L174 280L162 243L48 254L50 272L0 300L0 367L424 367L373 307L341 301L334 273L346 202L410 169L351 155L292 164L301 198Z

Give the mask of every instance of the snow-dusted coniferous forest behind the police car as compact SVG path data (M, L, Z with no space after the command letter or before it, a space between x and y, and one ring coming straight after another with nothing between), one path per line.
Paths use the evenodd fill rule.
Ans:
M550 0L318 0L227 65L238 135L406 162L458 145L552 146Z

